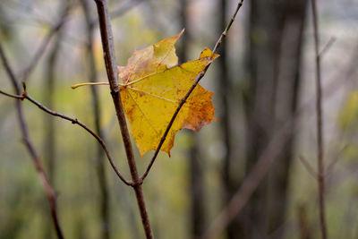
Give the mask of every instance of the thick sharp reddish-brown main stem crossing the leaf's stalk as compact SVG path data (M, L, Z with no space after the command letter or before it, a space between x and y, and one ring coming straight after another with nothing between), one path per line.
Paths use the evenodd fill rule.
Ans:
M95 0L95 2L97 4L98 9L99 29L102 38L102 47L105 57L109 87L115 105L115 113L117 115L118 123L122 132L127 162L128 166L130 167L132 181L134 183L133 188L141 213L141 222L144 227L145 235L147 236L147 238L153 238L151 227L149 224L149 216L147 213L144 196L141 189L141 178L138 175L137 166L135 164L132 142L129 136L127 123L125 121L124 108L122 105L120 89L118 86L118 75L115 60L115 44L109 19L108 5L106 0Z

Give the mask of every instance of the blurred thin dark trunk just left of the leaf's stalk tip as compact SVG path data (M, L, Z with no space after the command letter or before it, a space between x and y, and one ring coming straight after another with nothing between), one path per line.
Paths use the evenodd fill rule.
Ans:
M95 62L95 55L93 51L93 30L94 24L91 21L90 17L90 5L88 0L81 0L83 12L86 20L87 27L87 54L89 59L89 68L90 68L90 81L97 81L97 67ZM98 90L96 87L91 87L92 93L92 105L95 119L96 132L100 138L104 139L104 133L101 129L101 109L99 105L98 99ZM101 238L109 239L109 228L110 228L110 215L109 215L109 196L107 189L107 178L106 178L106 170L104 165L104 151L102 147L98 144L97 149L97 174L98 174L98 183L100 189L100 214L102 219L102 236Z

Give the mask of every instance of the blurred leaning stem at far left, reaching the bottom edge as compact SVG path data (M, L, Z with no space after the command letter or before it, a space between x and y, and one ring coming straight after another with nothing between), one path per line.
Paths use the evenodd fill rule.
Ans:
M13 69L11 68L11 66L7 60L7 57L4 54L4 50L3 50L1 43L0 43L0 57L3 61L5 71L8 74L10 81L13 84L13 90L18 95L17 98L19 98L20 97L19 96L20 95L20 86L18 84L15 74L13 73ZM4 95L10 96L10 94L7 94L7 93ZM52 217L52 221L55 226L55 232L56 232L57 238L63 239L64 235L62 233L62 229L59 224L58 217L57 217L57 210L56 210L56 203L55 203L55 192L52 189L51 185L48 183L48 178L45 173L44 167L42 166L41 161L38 157L38 152L36 151L35 147L33 146L32 141L30 140L28 127L25 122L25 118L23 116L23 111L22 111L20 100L16 100L16 110L17 110L19 124L20 124L20 128L21 128L22 139L25 143L26 148L30 152L32 161L34 162L34 165L36 166L38 175L42 181L42 184L44 185L44 189L47 194L47 201L50 206L51 217Z

